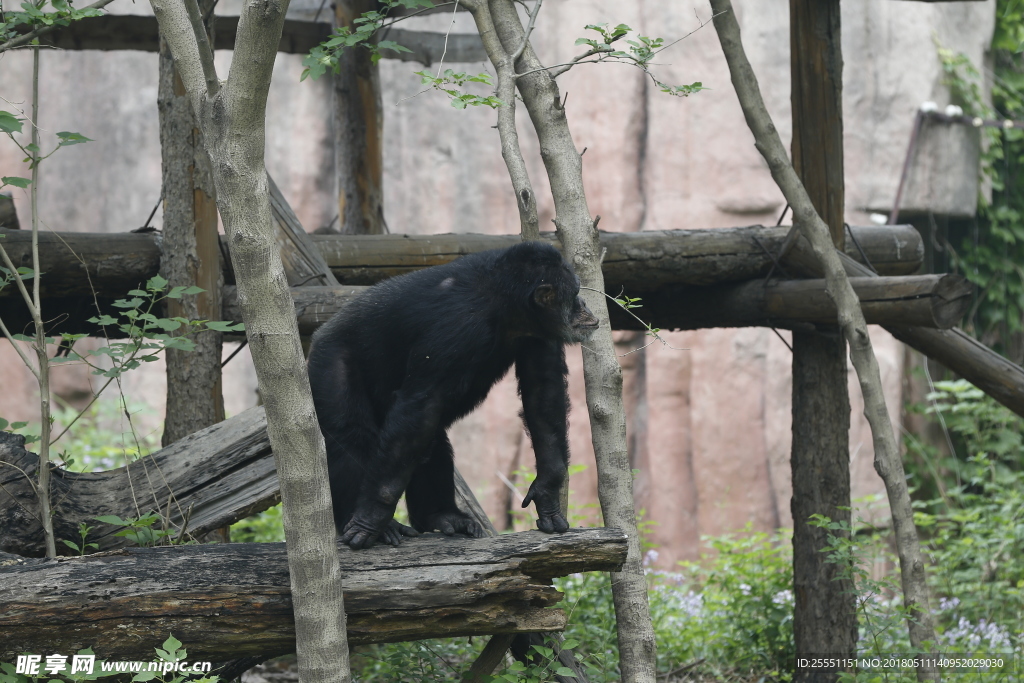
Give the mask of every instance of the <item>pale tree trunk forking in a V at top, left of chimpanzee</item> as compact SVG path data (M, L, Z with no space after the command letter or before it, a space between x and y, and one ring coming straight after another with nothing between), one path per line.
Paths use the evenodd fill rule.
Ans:
M351 673L327 456L288 281L274 248L263 158L266 97L288 0L251 0L243 6L223 84L196 0L152 0L152 5L213 162L217 206L281 483L299 676L304 683L347 683Z

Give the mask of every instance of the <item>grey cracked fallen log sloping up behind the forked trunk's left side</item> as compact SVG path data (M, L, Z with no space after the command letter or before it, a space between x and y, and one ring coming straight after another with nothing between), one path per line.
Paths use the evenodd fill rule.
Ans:
M0 552L43 555L39 505L32 481L39 457L25 439L0 432ZM276 504L278 473L262 408L196 432L126 467L105 472L53 468L50 500L53 532L78 541L79 522L93 527L89 543L119 548L121 527L95 521L102 515L138 518L154 511L161 526L201 538ZM67 552L57 543L58 552Z

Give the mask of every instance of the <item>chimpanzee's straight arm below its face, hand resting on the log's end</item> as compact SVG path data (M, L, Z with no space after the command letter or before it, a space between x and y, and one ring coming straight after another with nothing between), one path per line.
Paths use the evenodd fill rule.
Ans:
M523 422L537 456L537 479L522 506L537 503L538 527L548 533L561 532L569 527L559 506L569 461L564 346L536 337L517 340L515 374L522 396Z

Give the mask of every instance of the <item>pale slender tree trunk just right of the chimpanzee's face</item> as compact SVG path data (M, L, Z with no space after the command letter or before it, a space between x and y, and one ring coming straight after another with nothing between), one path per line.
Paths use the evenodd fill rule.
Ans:
M511 0L475 0L474 14L489 8L493 31L501 42L505 55L511 55L517 73L539 70L542 65L529 44L526 30ZM478 19L478 27L480 26ZM484 45L493 37L490 27L483 27ZM488 55L501 53L492 43ZM495 63L500 73L508 70L502 61ZM545 71L519 78L516 85L541 142L541 156L551 183L555 203L555 226L566 259L574 267L584 287L583 294L591 310L601 319L600 329L584 344L584 373L587 384L587 407L590 413L592 438L598 464L598 495L604 521L626 531L629 551L621 572L612 573L612 593L618 630L620 672L627 682L653 683L655 678L654 632L647 605L647 585L640 557L640 537L636 511L633 507L633 475L626 442L626 411L622 396L622 369L615 356L608 324L608 309L602 292L602 251L597 224L590 215L583 187L583 163L572 142L565 112L561 106L558 86ZM499 90L505 92L507 88ZM507 95L506 95L507 96ZM507 116L507 115L506 115ZM502 119L500 118L500 121ZM503 153L510 140L508 130L503 135ZM514 173L516 160L506 156ZM519 197L520 217L528 229L528 208ZM525 210L524 210L525 209Z

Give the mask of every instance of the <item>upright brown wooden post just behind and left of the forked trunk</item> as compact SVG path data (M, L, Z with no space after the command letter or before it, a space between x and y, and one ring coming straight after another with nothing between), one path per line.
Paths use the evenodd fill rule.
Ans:
M204 11L212 4L200 3ZM184 86L163 41L158 108L164 188L161 273L170 287L195 285L206 290L197 296L168 300L167 314L219 321L224 276L210 160ZM194 339L193 351L167 351L164 445L224 419L221 334L207 331Z

